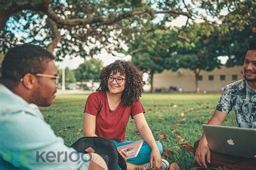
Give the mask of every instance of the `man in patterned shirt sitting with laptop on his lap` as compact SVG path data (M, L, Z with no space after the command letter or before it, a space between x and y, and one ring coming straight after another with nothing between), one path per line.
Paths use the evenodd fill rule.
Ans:
M225 87L214 114L208 125L221 125L227 114L234 110L238 127L256 129L256 42L253 39L244 61L245 79L235 81ZM246 140L246 139L244 139ZM255 146L255 145L254 145ZM223 167L224 169L256 169L256 152L254 157L229 155L210 152L206 136L194 144L195 160L201 167Z

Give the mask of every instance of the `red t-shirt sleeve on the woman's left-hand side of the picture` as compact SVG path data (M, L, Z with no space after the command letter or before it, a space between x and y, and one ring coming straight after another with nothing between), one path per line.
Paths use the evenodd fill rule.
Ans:
M100 110L100 103L99 103L99 96L97 95L98 92L91 93L87 100L84 107L84 113L89 113L92 115L97 115Z

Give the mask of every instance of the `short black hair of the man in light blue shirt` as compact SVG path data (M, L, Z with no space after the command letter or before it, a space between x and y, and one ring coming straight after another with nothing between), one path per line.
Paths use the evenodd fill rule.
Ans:
M12 47L3 59L1 80L8 82L7 86L12 89L26 73L42 73L46 64L53 59L50 52L38 45L22 44Z

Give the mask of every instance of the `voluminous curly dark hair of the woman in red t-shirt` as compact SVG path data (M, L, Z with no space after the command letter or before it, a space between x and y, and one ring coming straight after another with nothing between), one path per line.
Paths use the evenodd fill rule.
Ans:
M102 69L99 76L100 85L96 91L109 91L107 87L107 77L111 72L113 72L113 74L120 72L121 75L125 75L126 77L125 90L121 97L124 104L131 106L134 102L139 101L139 98L142 97L143 86L145 85L142 72L125 60L116 60L114 63Z

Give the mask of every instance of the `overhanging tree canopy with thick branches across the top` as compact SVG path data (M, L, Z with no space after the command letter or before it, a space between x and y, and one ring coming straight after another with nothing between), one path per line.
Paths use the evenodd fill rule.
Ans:
M226 19L228 28L243 29L244 25L252 25L254 7L254 2L238 0L0 0L0 50L5 52L21 42L47 47L57 59L66 55L92 57L102 48L121 51L124 40L133 40L137 32L152 31L156 25L165 26L179 16L186 17L186 25L198 18L217 24L208 21L207 16L212 16L219 21ZM235 15L221 15L221 10ZM242 16L240 11L248 15ZM177 36L187 40L183 35L185 26L177 28ZM20 37L14 35L16 32Z

